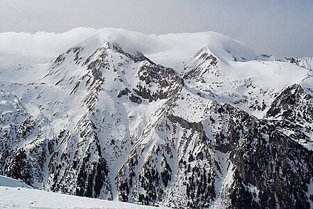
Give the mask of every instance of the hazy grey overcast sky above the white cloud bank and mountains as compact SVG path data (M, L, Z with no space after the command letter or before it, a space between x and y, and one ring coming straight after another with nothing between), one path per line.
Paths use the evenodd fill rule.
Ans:
M245 42L257 53L313 56L312 0L1 0L0 3L0 32L64 32L79 26L109 26L157 34L216 31Z

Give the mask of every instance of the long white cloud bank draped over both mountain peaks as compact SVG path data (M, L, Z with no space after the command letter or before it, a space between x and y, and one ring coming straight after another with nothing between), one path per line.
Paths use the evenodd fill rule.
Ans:
M81 27L64 33L0 33L0 66L48 63L75 45L96 49L104 41L116 42L127 52L143 52L153 61L172 68L180 66L203 47L220 59L232 60L235 54L247 60L256 56L243 43L216 32L147 35L125 29Z

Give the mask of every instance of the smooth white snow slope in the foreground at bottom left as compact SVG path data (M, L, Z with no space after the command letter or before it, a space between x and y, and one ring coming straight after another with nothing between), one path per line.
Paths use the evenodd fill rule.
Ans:
M0 208L153 209L164 207L139 206L118 201L45 192L39 189L31 189L19 180L0 176Z

